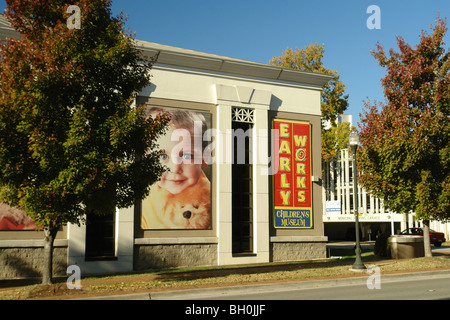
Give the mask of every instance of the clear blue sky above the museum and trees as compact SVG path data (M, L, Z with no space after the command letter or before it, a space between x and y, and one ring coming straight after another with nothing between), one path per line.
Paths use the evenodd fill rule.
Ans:
M381 10L381 29L366 26L370 5ZM114 13L120 10L140 40L261 63L287 47L325 44L324 64L341 74L354 125L363 100L384 100L385 70L370 54L376 43L397 50L400 35L415 46L438 12L450 19L449 0L113 0Z

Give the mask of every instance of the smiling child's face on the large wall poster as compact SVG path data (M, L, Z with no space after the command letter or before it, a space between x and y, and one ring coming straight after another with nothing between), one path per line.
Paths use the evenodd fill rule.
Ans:
M200 150L194 150L193 137L186 136L177 141L171 140L174 129L171 126L169 131L158 140L162 150L161 164L169 168L169 171L162 175L158 185L172 194L178 194L197 183L204 164L201 147Z

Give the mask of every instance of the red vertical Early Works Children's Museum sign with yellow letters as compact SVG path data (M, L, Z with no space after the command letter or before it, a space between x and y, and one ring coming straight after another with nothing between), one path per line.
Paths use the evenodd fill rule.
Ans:
M273 177L275 228L312 228L311 125L274 120L278 171Z

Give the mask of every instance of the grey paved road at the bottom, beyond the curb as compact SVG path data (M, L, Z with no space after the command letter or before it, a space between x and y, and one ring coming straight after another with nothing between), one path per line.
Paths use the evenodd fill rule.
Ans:
M373 276L373 277L372 277ZM376 274L370 277L375 280ZM152 300L450 300L450 271L152 293Z

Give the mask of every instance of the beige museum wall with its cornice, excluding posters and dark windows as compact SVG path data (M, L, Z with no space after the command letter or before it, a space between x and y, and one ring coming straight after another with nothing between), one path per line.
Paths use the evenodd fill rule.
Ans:
M0 24L0 37L4 39L10 35L11 30ZM319 186L313 183L314 228L275 230L272 227L270 177L264 172L269 165L271 119L297 119L312 124L313 175L320 176L320 94L329 77L144 41L137 43L146 56L158 54L157 63L151 70L152 84L139 94L138 103L192 108L212 114L213 127L219 133L216 163L213 164L213 227L198 231L143 231L139 228L139 208L121 209L117 212L115 230L117 259L85 261L86 228L70 224L61 233L65 241L61 246L67 249L60 251L67 252L67 264L77 264L82 268L82 274L87 274L126 272L137 266L151 268L152 263L164 267L164 263L149 262L152 261L149 256L155 252L167 257L154 261L169 261L167 266L190 264L192 257L189 255L203 255L203 259L196 261L203 265L269 262L274 257L275 260L309 259L307 252L312 251L313 255L320 255L322 247L325 250L326 238L323 237ZM235 257L231 251L231 161L228 151L233 107L255 110L252 159L254 254L246 257ZM0 232L0 245L3 240L4 252L9 254L16 248L24 248L20 241L28 239L30 234ZM33 234L32 238L37 236L39 233ZM290 256L289 248L299 244L315 249L304 250L303 256ZM39 246L33 243L32 247ZM177 262L180 250L185 254L180 254ZM7 262L2 263L6 265Z

